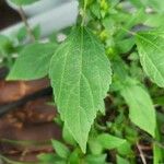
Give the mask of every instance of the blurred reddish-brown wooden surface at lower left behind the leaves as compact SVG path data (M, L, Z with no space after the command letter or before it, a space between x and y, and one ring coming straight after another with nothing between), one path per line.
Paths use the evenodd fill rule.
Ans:
M45 90L47 87L50 92ZM0 113L10 105L10 109L0 115L0 154L16 161L32 162L37 160L39 153L52 152L50 139L61 139L61 130L54 121L57 109L48 104L54 99L49 80L0 80ZM39 94L35 96L36 93ZM32 96L34 97L31 98ZM22 103L20 105L16 102ZM30 141L31 144L14 144L8 141Z

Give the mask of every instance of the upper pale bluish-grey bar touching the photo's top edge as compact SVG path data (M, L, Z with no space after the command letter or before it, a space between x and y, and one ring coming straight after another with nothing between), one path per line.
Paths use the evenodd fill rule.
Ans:
M38 2L35 2L30 5L23 5L23 11L27 16L33 16L38 13L51 10L52 8L61 4L66 0L39 0ZM68 1L68 0L67 0ZM13 2L10 0L7 0L8 4L13 8L14 10L19 10L19 7L15 5Z

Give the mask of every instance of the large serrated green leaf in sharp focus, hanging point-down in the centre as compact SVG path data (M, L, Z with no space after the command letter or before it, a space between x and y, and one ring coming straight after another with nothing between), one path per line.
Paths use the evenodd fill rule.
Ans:
M66 127L85 152L91 125L112 80L105 49L85 27L74 27L51 59L49 77Z

